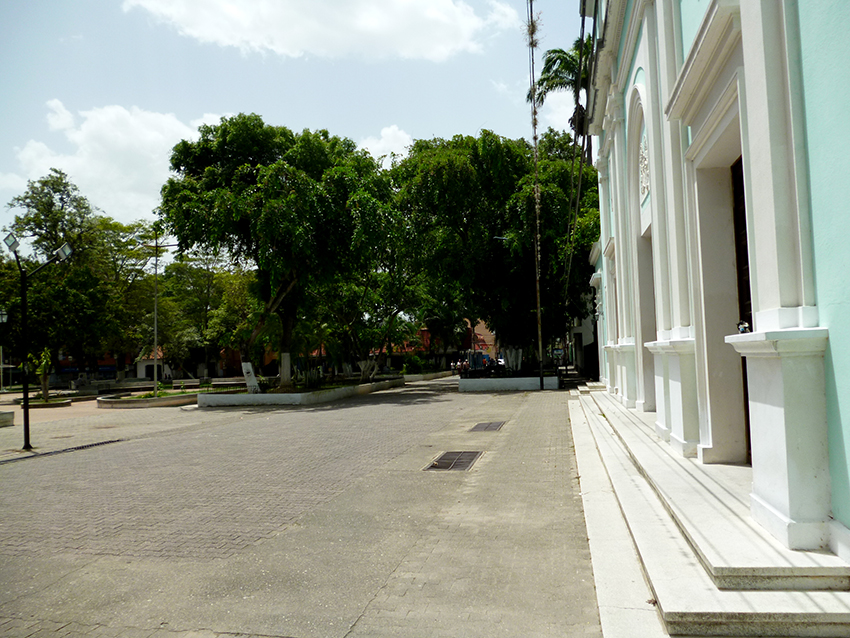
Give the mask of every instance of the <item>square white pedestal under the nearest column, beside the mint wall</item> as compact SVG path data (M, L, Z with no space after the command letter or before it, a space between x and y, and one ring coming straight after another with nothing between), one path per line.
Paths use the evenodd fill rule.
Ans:
M826 328L732 335L747 358L753 518L792 549L829 538Z

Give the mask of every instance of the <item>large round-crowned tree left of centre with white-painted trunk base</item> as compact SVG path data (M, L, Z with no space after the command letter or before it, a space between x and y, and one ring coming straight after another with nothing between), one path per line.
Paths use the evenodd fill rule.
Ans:
M282 383L305 295L335 276L356 236L355 186L362 171L376 170L363 156L351 140L327 131L294 134L254 114L202 126L197 142L174 147L161 219L182 250L224 249L256 268L264 310L242 350L250 352L274 316ZM336 169L355 185L331 188Z

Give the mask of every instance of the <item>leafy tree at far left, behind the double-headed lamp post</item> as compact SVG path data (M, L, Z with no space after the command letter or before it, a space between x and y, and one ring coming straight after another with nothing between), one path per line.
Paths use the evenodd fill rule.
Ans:
M104 352L122 353L134 340L131 326L133 293L144 276L151 255L145 243L150 226L123 225L99 215L89 201L58 170L35 181L9 202L22 209L7 230L29 243L34 255L22 256L22 267L32 272L67 242L73 249L68 262L52 266L29 280L28 349L48 348L54 361L61 349L81 365L96 366ZM17 278L14 270L9 275ZM15 328L10 338L19 342L20 297L7 288L10 316ZM19 343L19 347L22 344Z

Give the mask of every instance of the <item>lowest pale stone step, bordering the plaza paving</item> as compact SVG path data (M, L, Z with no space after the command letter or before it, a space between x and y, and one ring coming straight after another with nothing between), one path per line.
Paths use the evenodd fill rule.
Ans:
M599 406L579 400L669 634L850 636L850 592L719 589Z

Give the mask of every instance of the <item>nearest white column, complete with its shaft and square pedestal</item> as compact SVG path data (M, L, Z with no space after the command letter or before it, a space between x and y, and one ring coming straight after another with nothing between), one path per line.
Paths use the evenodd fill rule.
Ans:
M788 11L786 11L788 9ZM830 473L824 351L812 280L796 8L741 3L744 179L755 330L747 357L753 518L795 549L827 544Z

